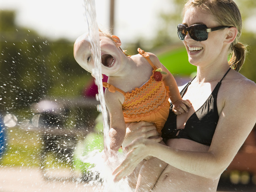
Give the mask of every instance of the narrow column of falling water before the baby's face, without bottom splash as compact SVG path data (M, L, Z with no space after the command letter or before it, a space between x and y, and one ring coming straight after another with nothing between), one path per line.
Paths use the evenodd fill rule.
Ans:
M101 111L103 117L103 126L104 126L104 150L105 158L108 158L109 151L109 125L107 123L107 109L104 100L104 92L102 85L102 69L101 69L101 51L100 51L100 36L98 23L96 20L96 6L94 0L84 0L85 4L85 18L88 24L88 39L92 45L92 56L94 60L94 69L92 69L92 75L96 79L96 85L98 85L98 98L101 104Z

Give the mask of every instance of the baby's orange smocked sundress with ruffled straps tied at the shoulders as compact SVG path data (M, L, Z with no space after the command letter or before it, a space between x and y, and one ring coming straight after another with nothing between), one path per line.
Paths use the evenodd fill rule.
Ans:
M125 122L153 122L161 134L169 115L169 87L164 86L162 80L156 81L154 73L157 68L151 62L149 54L139 48L138 51L153 68L149 81L132 92L124 92L107 82L103 83L103 87L108 88L110 92L118 91L124 95L122 110Z

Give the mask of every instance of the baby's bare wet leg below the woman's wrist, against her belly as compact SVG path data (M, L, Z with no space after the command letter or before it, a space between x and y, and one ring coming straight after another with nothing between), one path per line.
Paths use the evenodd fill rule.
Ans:
M147 160L139 171L135 192L151 191L166 166L166 162L163 162L156 157Z

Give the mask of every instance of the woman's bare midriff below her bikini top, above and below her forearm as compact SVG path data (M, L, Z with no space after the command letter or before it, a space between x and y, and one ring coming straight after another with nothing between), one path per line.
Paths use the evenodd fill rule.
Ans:
M184 151L206 152L209 146L190 141L188 139L170 139L167 142L169 147ZM196 150L195 150L196 149ZM207 170L205 170L207 171ZM160 175L155 192L214 192L216 191L218 180L207 179L185 171L181 171L168 165Z

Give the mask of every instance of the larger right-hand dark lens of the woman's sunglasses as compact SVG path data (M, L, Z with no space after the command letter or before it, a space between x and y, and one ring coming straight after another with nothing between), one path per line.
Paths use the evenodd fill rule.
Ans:
M206 32L207 27L205 25L194 25L190 26L189 34L193 40L205 41L208 38L208 33Z

